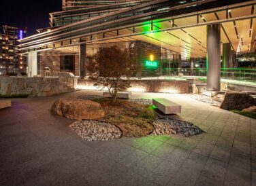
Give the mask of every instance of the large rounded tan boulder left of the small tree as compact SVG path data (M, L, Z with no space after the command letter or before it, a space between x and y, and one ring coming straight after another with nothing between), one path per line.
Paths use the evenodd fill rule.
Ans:
M52 114L69 119L97 119L105 115L101 105L91 100L59 98L52 105Z

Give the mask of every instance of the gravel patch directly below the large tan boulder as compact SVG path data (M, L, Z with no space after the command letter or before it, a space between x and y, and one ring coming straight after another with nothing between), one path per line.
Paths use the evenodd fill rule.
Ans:
M76 121L69 127L84 141L109 141L122 136L121 130L116 126L94 120Z

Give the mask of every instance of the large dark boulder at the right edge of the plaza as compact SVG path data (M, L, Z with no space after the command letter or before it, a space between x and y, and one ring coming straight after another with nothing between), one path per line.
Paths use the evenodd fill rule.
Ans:
M227 92L223 103L221 104L221 109L225 110L239 110L246 109L256 105L256 100L246 93L238 92Z

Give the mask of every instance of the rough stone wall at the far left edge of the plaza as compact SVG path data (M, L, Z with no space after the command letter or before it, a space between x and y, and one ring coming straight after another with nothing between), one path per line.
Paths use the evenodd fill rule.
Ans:
M67 77L0 77L0 94L52 96L74 91L77 81Z

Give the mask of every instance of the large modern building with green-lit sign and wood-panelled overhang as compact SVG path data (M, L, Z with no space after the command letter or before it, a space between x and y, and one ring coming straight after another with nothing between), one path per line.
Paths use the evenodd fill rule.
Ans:
M255 55L256 8L249 0L63 0L50 27L37 31L20 40L31 76L50 67L84 77L100 48L119 45L138 54L138 77L177 75L188 64L205 68L208 90L219 90L222 69Z

